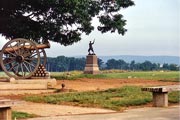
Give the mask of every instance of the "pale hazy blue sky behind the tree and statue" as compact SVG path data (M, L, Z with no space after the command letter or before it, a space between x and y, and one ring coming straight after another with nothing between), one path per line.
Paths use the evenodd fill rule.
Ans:
M95 30L82 35L82 40L71 46L51 43L47 56L56 57L87 55L90 40L97 56L107 55L168 55L179 56L180 48L180 1L179 0L134 0L135 6L122 10L127 20L124 36L117 33L102 34ZM93 25L97 25L97 19ZM0 48L7 41L1 37Z

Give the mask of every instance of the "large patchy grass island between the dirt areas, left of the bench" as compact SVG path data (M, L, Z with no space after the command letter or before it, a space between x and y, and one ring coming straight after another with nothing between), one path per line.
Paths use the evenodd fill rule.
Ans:
M142 105L152 100L149 92L142 92L140 87L125 86L98 92L64 93L24 98L32 102L49 104L71 104L84 107L103 107L120 110L122 107Z

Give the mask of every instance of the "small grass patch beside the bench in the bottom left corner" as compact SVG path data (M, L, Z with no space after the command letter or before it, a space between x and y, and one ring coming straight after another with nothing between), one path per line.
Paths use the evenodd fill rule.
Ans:
M24 113L24 112L17 112L17 111L13 111L12 112L12 120L16 119L26 119L26 118L33 118L36 117L36 115L34 114L28 114L28 113Z

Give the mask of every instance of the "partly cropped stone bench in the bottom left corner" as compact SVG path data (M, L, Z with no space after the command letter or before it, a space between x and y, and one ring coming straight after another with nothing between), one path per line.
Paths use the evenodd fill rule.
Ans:
M11 120L11 106L13 102L9 99L0 98L0 120Z

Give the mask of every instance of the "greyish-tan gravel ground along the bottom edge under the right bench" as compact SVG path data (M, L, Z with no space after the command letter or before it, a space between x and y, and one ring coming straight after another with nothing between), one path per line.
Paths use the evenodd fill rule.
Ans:
M138 108L123 113L31 118L27 120L179 120L180 106Z

